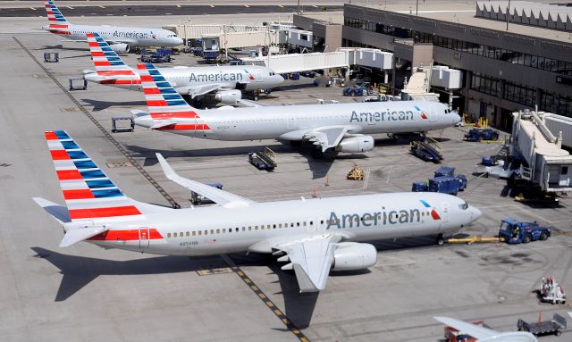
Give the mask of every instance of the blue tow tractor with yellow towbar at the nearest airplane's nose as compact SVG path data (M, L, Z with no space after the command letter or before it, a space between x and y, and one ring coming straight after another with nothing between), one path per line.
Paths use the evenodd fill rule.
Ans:
M527 244L530 241L546 240L551 236L551 229L540 227L538 223L523 222L513 218L501 221L499 238L508 244Z

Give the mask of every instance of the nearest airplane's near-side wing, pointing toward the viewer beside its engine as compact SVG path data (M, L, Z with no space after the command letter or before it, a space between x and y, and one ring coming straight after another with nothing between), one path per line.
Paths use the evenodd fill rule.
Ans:
M282 270L293 269L300 292L316 292L325 288L333 262L333 251L341 237L332 233L299 238L274 246L287 255L279 262L290 261Z

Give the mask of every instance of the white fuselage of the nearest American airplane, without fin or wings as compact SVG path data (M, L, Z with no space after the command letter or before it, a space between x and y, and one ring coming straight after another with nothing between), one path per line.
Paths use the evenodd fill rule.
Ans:
M343 241L447 235L480 212L456 196L395 193L170 210L113 227L88 241L151 254L272 252L292 238L341 234ZM97 224L97 221L94 221Z

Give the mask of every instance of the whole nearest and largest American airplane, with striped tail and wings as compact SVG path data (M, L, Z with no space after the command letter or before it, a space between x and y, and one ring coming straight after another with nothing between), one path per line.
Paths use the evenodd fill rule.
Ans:
M87 241L105 248L167 255L283 254L301 292L324 289L330 270L374 266L374 246L359 241L442 238L481 212L457 196L394 193L257 203L185 179L156 154L168 179L216 205L172 209L125 196L63 130L46 132L66 206L34 198L65 232L60 246Z

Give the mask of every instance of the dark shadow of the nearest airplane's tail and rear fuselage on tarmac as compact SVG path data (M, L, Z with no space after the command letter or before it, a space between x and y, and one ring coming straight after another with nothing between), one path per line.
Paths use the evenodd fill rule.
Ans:
M211 267L226 267L218 255L193 258L186 256L155 256L146 259L113 261L59 254L42 247L31 247L31 250L36 253L35 257L46 259L57 267L63 275L60 288L58 288L55 295L55 302L62 302L68 299L100 275L163 274L198 271Z

